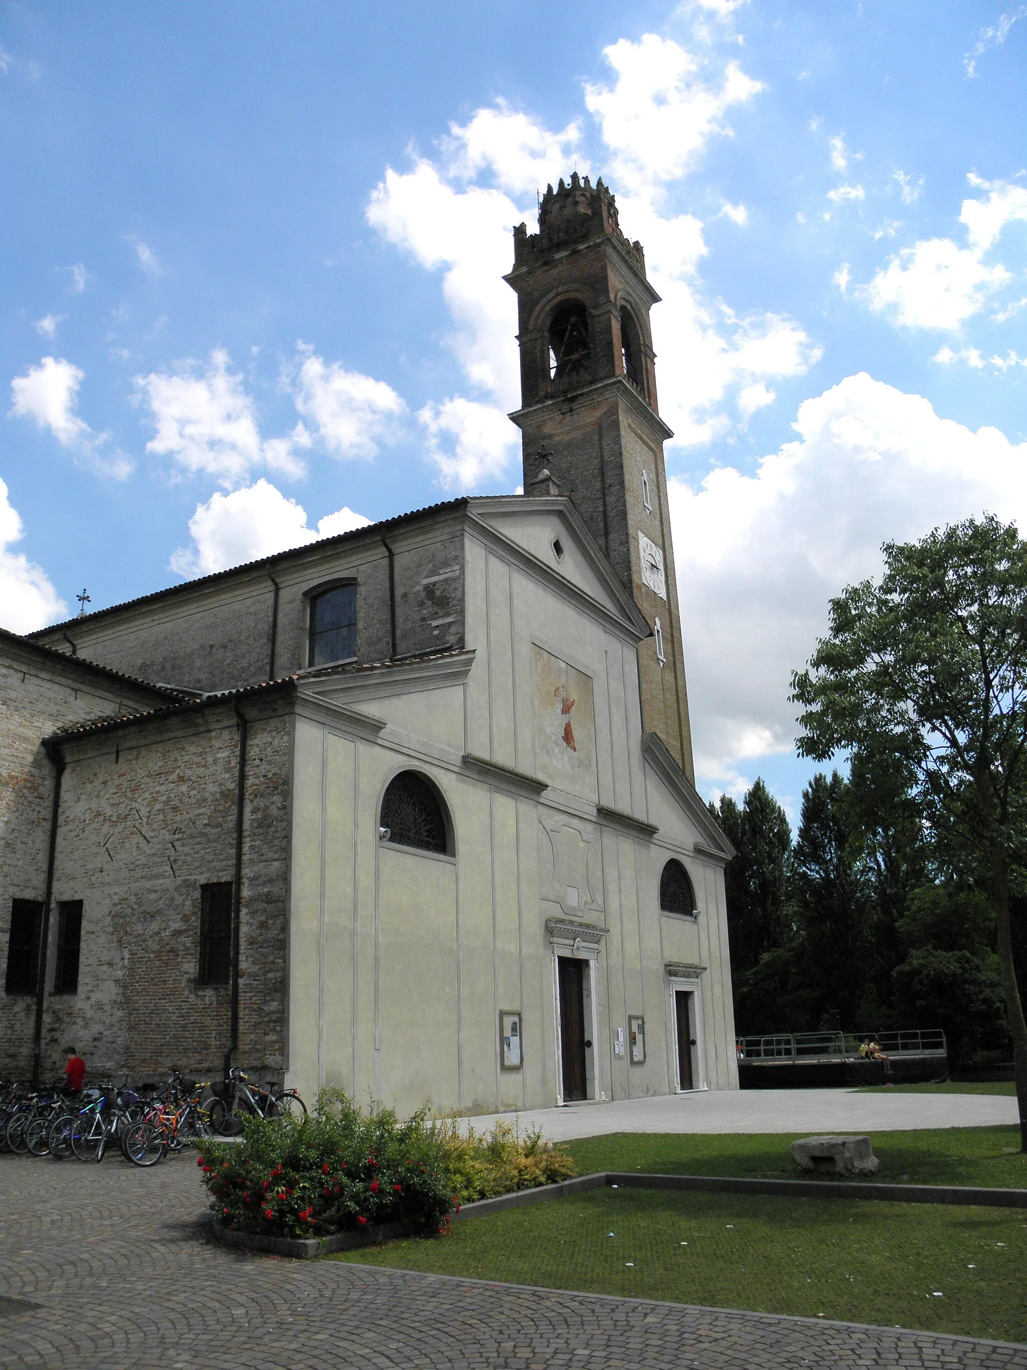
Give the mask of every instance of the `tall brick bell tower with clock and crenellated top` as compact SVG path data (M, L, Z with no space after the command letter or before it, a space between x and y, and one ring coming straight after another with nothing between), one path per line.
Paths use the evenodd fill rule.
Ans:
M524 495L564 495L653 636L639 644L642 727L694 784L678 586L641 242L601 179L546 186L538 233L514 229Z

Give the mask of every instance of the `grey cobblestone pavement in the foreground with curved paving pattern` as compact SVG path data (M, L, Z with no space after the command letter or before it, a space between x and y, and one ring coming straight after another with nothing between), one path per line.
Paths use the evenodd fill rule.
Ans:
M1027 1347L248 1256L205 1238L189 1158L0 1155L0 1366L1027 1370Z

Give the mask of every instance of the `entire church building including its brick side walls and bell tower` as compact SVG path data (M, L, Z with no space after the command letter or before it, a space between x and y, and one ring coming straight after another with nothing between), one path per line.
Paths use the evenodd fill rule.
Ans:
M507 279L524 495L0 640L0 1073L74 1040L400 1112L737 1088L656 297L576 177Z

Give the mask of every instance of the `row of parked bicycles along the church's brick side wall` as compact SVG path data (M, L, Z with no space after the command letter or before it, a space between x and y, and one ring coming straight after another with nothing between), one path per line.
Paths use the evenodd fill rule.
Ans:
M103 1160L115 1147L136 1166L153 1166L194 1141L234 1136L245 1117L305 1115L294 1089L252 1085L238 1069L226 1081L185 1080L160 1085L101 1084L45 1089L0 1084L0 1151L63 1160Z

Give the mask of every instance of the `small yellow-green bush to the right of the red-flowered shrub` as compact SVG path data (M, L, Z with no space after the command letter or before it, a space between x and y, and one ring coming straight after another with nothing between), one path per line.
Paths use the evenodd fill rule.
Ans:
M497 1122L492 1133L464 1136L455 1118L435 1123L449 1162L453 1193L460 1203L494 1199L515 1189L535 1189L570 1180L574 1158L563 1147L542 1140L538 1130L520 1137L508 1122Z

